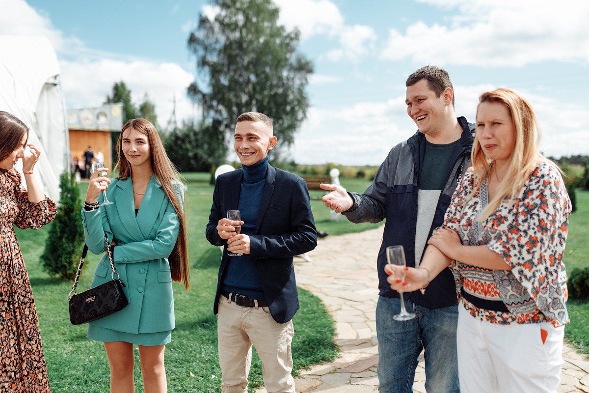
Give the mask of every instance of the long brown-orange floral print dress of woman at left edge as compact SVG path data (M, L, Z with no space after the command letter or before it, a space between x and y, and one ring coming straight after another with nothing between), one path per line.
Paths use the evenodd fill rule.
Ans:
M15 169L0 169L0 391L51 392L37 309L14 226L38 229L57 213L45 197L28 200Z

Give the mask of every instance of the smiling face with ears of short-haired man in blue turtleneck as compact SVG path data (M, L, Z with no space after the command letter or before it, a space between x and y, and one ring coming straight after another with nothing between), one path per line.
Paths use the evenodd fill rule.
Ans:
M233 148L241 165L259 163L276 146L276 142L272 129L262 121L240 121L235 126Z

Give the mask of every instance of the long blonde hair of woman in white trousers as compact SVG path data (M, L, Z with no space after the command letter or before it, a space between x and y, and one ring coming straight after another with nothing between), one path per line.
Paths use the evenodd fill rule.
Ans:
M487 207L478 216L478 221L486 220L494 213L499 204L509 197L509 202L517 199L524 187L525 180L530 173L542 161L548 161L542 156L538 148L540 144L540 125L532 105L521 93L509 88L501 87L494 91L487 91L479 97L479 105L482 103L499 103L505 105L511 115L515 128L514 150L509 157L507 171L501 182L498 184L497 192L493 199L489 200ZM478 115L478 107L477 107ZM478 134L475 135L472 144L471 165L474 167L474 187L466 197L463 206L481 188L481 184L491 173L491 164L481 147Z

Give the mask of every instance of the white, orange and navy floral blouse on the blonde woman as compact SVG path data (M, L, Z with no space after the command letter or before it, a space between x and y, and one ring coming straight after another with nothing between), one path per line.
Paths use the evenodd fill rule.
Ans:
M503 257L511 270L489 270L452 261L458 294L465 290L485 300L502 300L508 312L463 304L481 321L511 323L569 322L567 273L562 263L571 202L564 181L552 163L544 162L530 173L515 202L506 197L497 211L482 223L487 206L486 182L462 207L474 186L473 168L462 179L444 226L455 230L463 245L487 245Z

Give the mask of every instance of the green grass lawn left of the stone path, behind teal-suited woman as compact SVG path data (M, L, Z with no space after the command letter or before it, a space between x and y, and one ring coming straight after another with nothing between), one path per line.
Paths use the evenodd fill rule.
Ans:
M219 361L217 357L217 317L213 315L213 299L221 253L205 239L204 229L209 219L213 187L209 174L184 174L187 183L188 239L191 262L191 290L186 292L174 285L176 329L172 342L166 346L166 369L170 392L220 392ZM82 198L88 183L80 184ZM350 190L362 192L366 180L345 183ZM317 191L319 197L323 194ZM355 225L345 217L332 222L329 209L313 200L317 229L331 235L358 232L372 224ZM42 270L39 256L43 251L49 224L41 230L19 230L17 237L39 314L49 380L54 392L93 393L108 391L109 370L104 346L86 338L87 327L72 326L68 317L67 295L72 283L50 278ZM88 254L78 290L90 288L92 272L99 256ZM335 326L329 313L316 296L299 289L301 309L293 319L294 368L300 369L335 358L333 342ZM250 391L262 385L262 364L254 352L250 372ZM135 386L143 391L138 351L135 351Z

